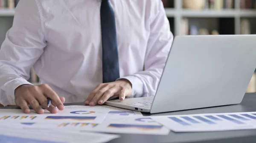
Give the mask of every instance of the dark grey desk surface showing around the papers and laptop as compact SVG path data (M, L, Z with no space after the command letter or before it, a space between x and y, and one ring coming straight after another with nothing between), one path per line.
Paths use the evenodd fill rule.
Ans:
M79 104L65 104L79 105ZM80 104L82 105L82 104ZM3 108L3 107L2 107ZM4 107L15 108L15 107ZM181 115L181 114L201 114L201 113L221 113L221 112L255 112L256 93L245 94L241 104L212 107L204 109L186 110L180 112L169 112L154 115ZM143 114L145 116L154 116ZM169 135L129 135L122 134L120 138L109 143L255 143L256 130L239 130L224 132L198 132L198 133L175 133Z

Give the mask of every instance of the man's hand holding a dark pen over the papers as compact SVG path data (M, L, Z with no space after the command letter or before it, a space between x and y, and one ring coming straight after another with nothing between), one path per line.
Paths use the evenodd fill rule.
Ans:
M51 105L47 107L47 97L51 98ZM64 109L65 98L57 95L47 84L20 85L15 89L15 104L20 106L24 113L30 113L29 105L38 114L43 114L44 107L51 113L57 113L58 109ZM40 107L41 106L41 107ZM56 109L56 107L58 109Z

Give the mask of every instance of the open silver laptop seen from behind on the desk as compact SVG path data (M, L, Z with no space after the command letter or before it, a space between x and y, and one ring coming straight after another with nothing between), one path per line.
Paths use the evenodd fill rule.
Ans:
M155 95L105 104L150 113L239 104L256 68L255 39L176 36Z

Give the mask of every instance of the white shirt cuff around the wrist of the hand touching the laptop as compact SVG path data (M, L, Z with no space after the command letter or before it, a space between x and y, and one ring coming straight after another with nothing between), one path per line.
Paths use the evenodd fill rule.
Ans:
M136 96L140 96L143 94L143 82L136 76L125 76L120 79L127 79L131 82L132 86L132 95L131 98L134 98ZM117 80L120 80L117 79Z

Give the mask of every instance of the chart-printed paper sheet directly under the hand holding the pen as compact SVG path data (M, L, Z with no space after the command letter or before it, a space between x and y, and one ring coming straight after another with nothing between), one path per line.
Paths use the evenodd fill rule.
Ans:
M0 124L5 122L59 123L86 121L87 123L102 123L108 110L64 109L57 114L45 110L44 114L37 114L34 110L24 114L20 109L0 109Z

